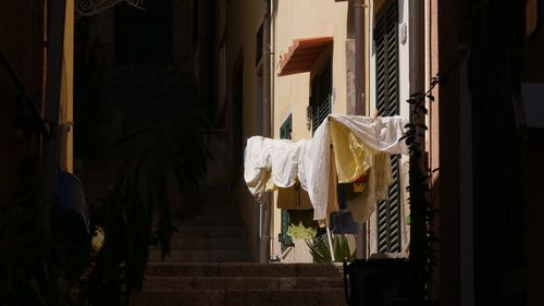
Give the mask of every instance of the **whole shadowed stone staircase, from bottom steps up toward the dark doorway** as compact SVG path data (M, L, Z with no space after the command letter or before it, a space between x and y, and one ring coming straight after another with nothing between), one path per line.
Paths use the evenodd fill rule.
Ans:
M190 99L190 82L171 72L121 70L101 75L97 113L106 113L95 130L101 143L114 143L131 131L160 124L173 113L202 114ZM102 137L102 138L100 138ZM144 291L133 306L159 305L346 305L339 266L331 264L256 264L230 189L228 134L212 131L213 155L201 192L171 195L174 225L171 253L161 258L149 249ZM99 201L113 183L122 159L140 144L114 152L98 150L78 173L89 204ZM168 182L172 184L172 182ZM174 188L169 188L174 189ZM187 213L187 208L191 208Z

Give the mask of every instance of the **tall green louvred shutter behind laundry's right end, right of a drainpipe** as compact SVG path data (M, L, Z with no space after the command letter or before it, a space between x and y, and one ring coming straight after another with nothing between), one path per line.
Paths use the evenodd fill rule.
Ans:
M397 1L390 1L381 10L374 27L376 110L380 115L399 113L397 12ZM378 204L380 253L400 252L401 247L399 161L399 156L391 158L390 198Z

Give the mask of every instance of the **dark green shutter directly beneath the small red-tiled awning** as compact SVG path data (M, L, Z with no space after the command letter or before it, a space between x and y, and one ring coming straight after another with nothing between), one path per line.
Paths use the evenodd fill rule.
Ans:
M312 133L331 113L332 73L329 65L313 78L311 86Z

